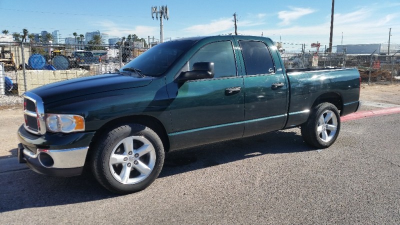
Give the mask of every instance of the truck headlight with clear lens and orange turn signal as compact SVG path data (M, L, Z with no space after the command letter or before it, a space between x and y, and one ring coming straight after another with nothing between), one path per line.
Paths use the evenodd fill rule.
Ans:
M84 118L80 115L46 114L46 127L50 132L83 131Z

